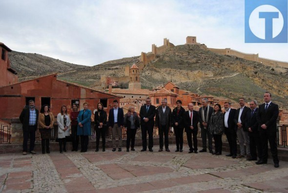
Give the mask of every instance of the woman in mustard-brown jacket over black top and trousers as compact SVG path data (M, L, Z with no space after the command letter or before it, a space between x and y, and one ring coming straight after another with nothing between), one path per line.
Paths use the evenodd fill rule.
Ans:
M43 105L41 107L38 118L38 126L41 135L42 154L45 154L45 145L46 145L46 153L50 154L49 141L53 125L54 125L54 116L49 111L48 105Z

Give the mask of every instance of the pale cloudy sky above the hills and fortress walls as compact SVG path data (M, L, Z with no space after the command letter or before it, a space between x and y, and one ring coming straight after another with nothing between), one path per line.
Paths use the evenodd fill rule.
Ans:
M287 43L245 43L245 0L0 0L0 42L94 66L140 56L151 45L231 48L288 61Z

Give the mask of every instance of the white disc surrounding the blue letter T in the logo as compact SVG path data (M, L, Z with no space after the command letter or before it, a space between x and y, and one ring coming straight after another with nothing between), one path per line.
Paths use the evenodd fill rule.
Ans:
M284 26L281 12L272 5L261 5L255 8L249 17L251 32L260 39L265 39L265 18L259 18L259 12L278 12L279 17L272 19L272 38L280 34Z

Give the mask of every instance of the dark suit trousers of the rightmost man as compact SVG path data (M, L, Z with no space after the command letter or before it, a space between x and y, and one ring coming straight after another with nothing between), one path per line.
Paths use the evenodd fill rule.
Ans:
M279 163L278 152L277 152L277 139L276 132L260 131L260 138L262 142L262 156L263 161L267 161L268 158L268 141L270 145L270 151L273 157L274 163Z

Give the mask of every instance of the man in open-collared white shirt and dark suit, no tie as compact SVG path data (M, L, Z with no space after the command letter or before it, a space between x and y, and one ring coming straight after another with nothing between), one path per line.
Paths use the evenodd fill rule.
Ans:
M236 158L237 156L237 135L235 130L235 122L234 117L236 113L236 109L231 109L230 103L225 102L224 103L224 133L227 137L229 148L230 148L230 154L226 154L226 156L232 156L232 158Z

